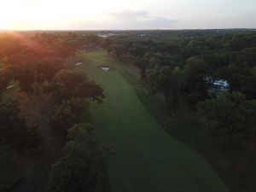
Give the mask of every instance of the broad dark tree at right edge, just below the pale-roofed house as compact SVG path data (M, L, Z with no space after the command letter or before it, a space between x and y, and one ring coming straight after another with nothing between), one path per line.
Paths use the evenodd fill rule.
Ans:
M199 109L223 142L240 139L253 131L256 102L247 101L240 92L224 92L217 98L201 102Z

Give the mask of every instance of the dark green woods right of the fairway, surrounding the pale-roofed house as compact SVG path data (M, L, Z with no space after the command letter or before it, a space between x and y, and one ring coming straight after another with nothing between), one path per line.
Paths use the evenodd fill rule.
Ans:
M256 32L130 32L105 42L109 54L141 69L148 90L162 94L166 108L179 108L182 102L200 106L225 141L255 135ZM228 93L221 94L224 90Z

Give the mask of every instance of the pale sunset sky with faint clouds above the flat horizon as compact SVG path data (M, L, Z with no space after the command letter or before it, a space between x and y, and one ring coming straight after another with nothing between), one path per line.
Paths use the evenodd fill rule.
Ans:
M256 28L256 0L0 0L0 29Z

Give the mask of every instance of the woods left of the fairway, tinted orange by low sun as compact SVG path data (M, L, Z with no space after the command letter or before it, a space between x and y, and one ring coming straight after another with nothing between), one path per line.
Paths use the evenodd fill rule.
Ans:
M0 191L108 191L109 150L84 113L103 90L63 65L95 37L0 34Z

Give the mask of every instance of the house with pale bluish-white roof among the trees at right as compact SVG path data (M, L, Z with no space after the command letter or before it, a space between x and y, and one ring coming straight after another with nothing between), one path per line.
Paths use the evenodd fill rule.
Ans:
M224 92L230 89L230 84L225 79L213 80L212 78L206 78L208 87L208 95L216 96L220 92Z

